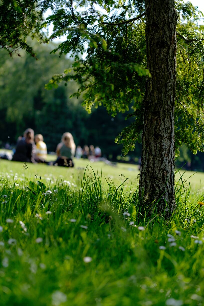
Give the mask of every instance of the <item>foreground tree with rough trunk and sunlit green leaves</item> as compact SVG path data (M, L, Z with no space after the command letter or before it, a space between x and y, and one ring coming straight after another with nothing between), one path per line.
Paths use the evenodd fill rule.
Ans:
M54 52L60 50L60 55L75 58L73 69L55 75L47 88L63 80L76 80L79 89L75 95L85 93L88 112L93 105L103 104L115 116L118 111L125 113L132 107L135 121L117 141L124 144L126 154L134 148L143 128L140 196L148 194L150 203L164 198L157 205L158 211L163 211L166 202L174 202L174 119L176 144L185 143L194 152L203 150L203 38L202 29L196 25L197 10L191 3L180 1L176 2L176 13L173 0L76 1L74 5L72 1L46 0L42 8L52 11L47 19L54 25L51 39L67 37ZM184 75L179 75L180 71L177 74L178 89L181 86L187 89L181 98L178 90L175 95L176 34L182 39L178 40L177 58L182 58L180 71L184 71ZM147 76L146 93L143 76ZM149 170L154 176L148 176Z

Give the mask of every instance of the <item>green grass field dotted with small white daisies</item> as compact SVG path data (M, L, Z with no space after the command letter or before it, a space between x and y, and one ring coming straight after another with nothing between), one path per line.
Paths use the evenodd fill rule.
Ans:
M27 167L0 160L1 305L204 304L204 174L141 221L135 165Z

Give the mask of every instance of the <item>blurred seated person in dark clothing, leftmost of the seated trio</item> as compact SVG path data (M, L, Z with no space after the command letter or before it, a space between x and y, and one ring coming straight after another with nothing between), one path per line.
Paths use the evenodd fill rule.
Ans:
M34 131L27 129L24 132L24 137L17 142L16 151L12 160L15 162L35 162L33 158L34 151Z

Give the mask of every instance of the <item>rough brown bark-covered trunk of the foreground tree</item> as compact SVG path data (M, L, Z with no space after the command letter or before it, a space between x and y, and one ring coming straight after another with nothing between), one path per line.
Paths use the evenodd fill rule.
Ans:
M139 194L144 205L161 198L173 207L176 21L174 0L145 0L147 77L144 98L142 165ZM164 212L165 201L157 210Z

